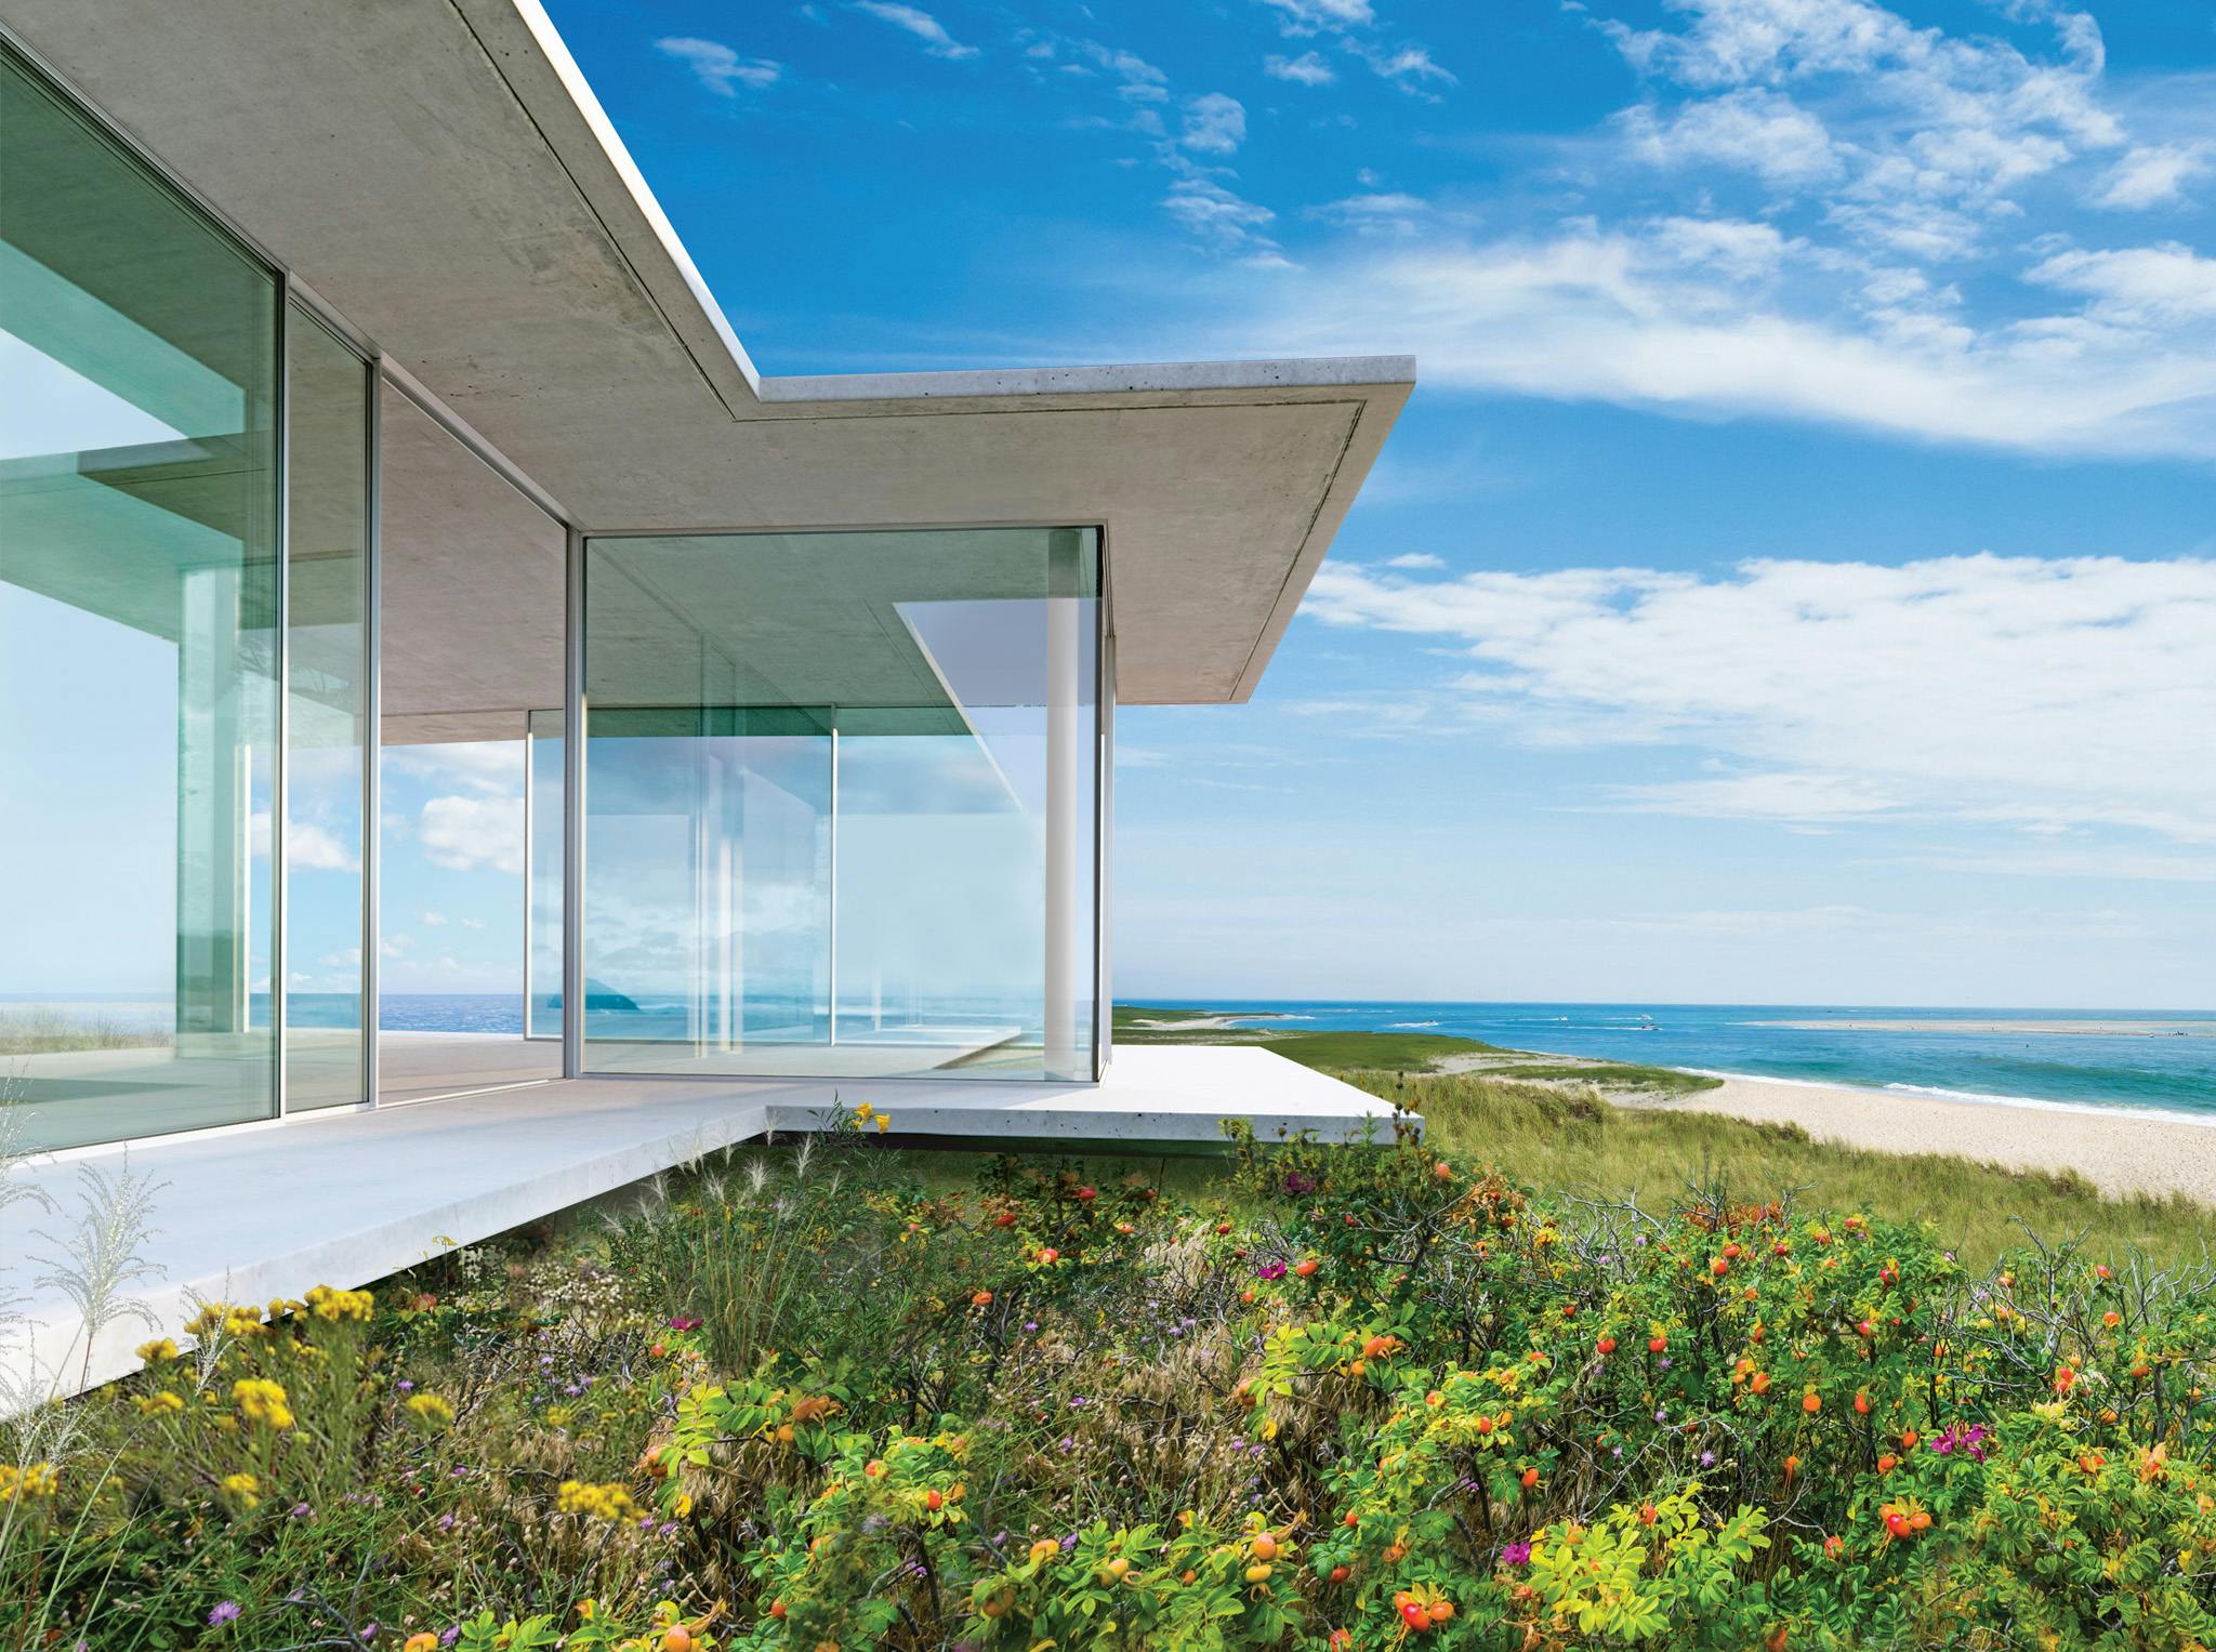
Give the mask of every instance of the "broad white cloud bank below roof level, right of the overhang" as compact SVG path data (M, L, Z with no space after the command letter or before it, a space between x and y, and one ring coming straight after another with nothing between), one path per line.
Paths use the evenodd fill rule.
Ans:
M1615 808L2143 833L2216 855L2216 560L1451 580L1325 562L1305 611L1469 658L1409 726L1709 760L1609 793Z

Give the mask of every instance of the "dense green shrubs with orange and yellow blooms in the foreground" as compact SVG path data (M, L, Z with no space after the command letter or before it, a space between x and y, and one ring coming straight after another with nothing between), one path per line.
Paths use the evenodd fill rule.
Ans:
M842 1138L219 1311L0 1486L0 1594L100 1648L2205 1648L2212 1309L1412 1138L1186 1200Z

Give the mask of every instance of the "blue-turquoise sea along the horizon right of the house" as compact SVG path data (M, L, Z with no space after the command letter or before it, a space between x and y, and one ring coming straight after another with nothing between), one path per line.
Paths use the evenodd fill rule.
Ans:
M1445 1032L1562 1056L1972 1101L2152 1107L2216 1118L2216 1012L1901 1010L1791 1003L1358 1003L1141 999L1174 1010L1290 1016L1314 1032ZM1777 1025L1786 1021L1813 1028ZM1915 1030L1850 1030L1901 1021ZM2174 1023L2194 1036L1983 1032L1994 1021Z

